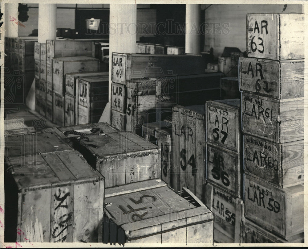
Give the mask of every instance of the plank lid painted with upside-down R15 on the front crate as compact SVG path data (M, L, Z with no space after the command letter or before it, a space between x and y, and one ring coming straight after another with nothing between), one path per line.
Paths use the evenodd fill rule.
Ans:
M189 198L180 197L161 179L141 181L105 189L104 213L121 226L128 239L155 233L156 226L156 232L164 232L183 223L213 220L205 205L195 206Z

